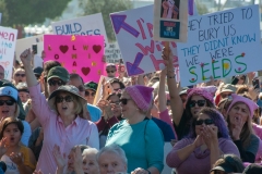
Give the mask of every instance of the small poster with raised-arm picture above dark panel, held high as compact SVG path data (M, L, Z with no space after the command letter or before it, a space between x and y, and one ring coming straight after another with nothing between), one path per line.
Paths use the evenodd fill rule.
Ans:
M188 0L155 0L154 39L181 41L188 39L188 4L193 14L193 2Z

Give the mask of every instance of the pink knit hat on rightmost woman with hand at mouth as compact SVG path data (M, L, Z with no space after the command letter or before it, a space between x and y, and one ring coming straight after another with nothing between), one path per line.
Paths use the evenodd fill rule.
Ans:
M242 97L242 96L238 96L236 94L231 94L231 98L233 98L233 101L231 101L231 104L229 105L228 110L227 110L227 115L228 115L228 112L230 111L230 109L233 108L233 105L237 102L243 102L245 104L248 105L249 108L249 111L250 111L250 116L253 117L253 112L254 110L257 110L259 108L259 105L253 102L252 100L246 98L246 97Z

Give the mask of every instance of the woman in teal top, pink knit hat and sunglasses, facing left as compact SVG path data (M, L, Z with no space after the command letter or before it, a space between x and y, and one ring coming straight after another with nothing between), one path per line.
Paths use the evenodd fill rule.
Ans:
M117 144L124 150L128 173L159 174L164 167L162 130L146 117L153 104L152 92L153 88L145 86L127 87L120 98L126 120L115 124L107 136L106 146Z

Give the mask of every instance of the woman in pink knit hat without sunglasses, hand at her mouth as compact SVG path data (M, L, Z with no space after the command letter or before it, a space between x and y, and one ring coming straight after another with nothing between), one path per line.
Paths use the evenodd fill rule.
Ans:
M233 101L227 110L229 133L238 147L242 161L253 163L260 139L253 133L252 117L259 105L243 96L233 94L231 97Z

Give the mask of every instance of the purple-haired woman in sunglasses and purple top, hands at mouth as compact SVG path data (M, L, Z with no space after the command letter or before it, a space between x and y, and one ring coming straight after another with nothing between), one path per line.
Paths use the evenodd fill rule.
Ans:
M193 119L187 138L178 141L166 158L167 165L177 174L207 174L222 154L239 151L229 138L223 115L211 108L203 108ZM193 165L193 170L192 166Z

